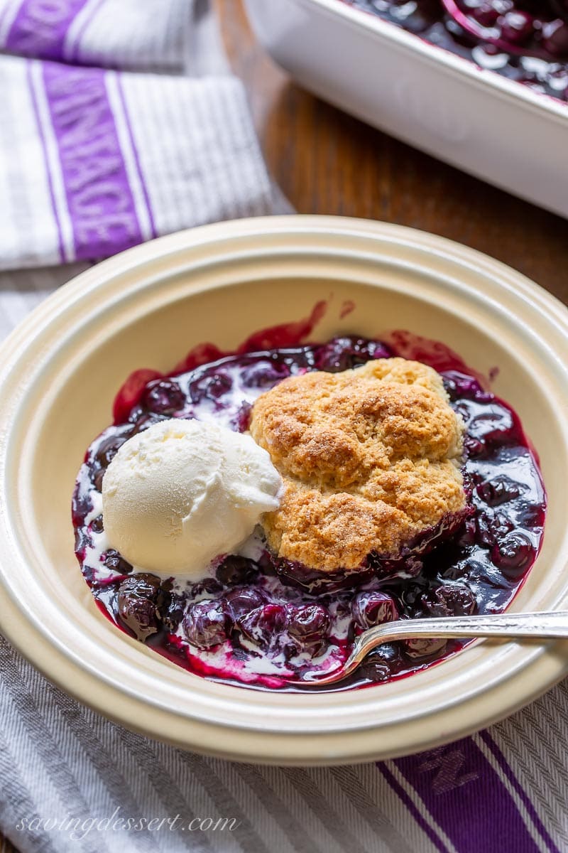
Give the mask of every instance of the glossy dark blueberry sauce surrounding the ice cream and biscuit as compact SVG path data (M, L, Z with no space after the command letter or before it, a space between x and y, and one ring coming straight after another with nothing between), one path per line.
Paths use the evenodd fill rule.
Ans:
M310 334L309 328L282 330L275 337L253 336L232 355L212 345L199 347L168 376L138 371L130 377L118 394L114 425L87 450L72 515L83 576L100 610L118 628L200 676L296 690L287 686L287 678L335 669L353 637L371 625L502 612L536 559L546 497L518 416L444 345L408 333L393 333L388 343L343 337L322 345L290 345L295 336ZM250 351L259 344L269 348ZM437 369L451 405L466 423L463 475L469 510L433 531L429 549L414 543L392 565L370 555L367 571L356 579L321 583L295 566L275 566L257 531L240 554L221 555L209 577L192 583L164 580L131 566L106 542L102 478L118 448L136 432L170 417L195 417L244 431L255 398L285 377L336 372L395 355ZM353 676L328 689L407 676L464 645L387 644Z

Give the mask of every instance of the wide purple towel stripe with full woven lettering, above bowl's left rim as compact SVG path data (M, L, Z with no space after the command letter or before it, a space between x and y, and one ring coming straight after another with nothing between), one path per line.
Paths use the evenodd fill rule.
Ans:
M100 68L43 65L75 252L81 260L106 258L143 239L105 74Z

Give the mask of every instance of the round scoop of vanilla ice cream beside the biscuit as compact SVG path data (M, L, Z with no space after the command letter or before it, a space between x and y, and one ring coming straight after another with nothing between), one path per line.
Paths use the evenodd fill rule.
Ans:
M278 508L281 489L270 456L249 435L160 421L129 438L106 470L106 537L135 566L197 580Z

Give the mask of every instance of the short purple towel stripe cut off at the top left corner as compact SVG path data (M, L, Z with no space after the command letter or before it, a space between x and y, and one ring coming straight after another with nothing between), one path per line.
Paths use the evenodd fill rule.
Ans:
M24 0L10 27L6 49L25 56L61 59L66 32L87 0Z

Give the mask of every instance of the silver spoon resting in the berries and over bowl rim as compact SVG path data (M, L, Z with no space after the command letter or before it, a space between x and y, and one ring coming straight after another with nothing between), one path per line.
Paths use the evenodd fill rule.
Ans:
M496 613L489 616L399 619L369 628L360 634L353 651L341 666L327 674L307 672L290 685L335 684L351 675L370 651L383 642L423 639L473 639L477 637L568 640L568 611L541 613Z

